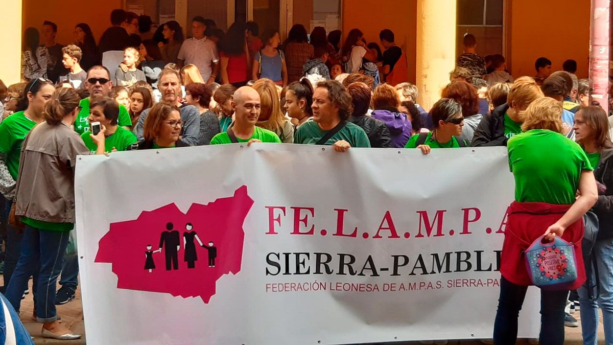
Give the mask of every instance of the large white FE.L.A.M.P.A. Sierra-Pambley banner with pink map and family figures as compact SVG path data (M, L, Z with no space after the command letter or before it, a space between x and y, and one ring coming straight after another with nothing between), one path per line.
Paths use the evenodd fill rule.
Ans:
M79 157L87 343L491 338L513 186L504 147ZM520 337L538 307L531 288Z

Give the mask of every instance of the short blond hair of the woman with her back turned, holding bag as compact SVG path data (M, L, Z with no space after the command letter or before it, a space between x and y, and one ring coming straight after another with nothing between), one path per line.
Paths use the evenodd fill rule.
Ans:
M563 132L562 102L550 97L541 97L530 103L524 113L522 131L550 130L556 133Z

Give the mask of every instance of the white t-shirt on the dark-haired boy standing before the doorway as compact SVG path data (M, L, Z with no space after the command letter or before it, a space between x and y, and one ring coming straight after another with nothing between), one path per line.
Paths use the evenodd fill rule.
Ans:
M215 42L206 36L203 39L191 37L183 41L177 58L185 61L185 64L195 64L206 82L213 73L211 64L219 62L219 53Z

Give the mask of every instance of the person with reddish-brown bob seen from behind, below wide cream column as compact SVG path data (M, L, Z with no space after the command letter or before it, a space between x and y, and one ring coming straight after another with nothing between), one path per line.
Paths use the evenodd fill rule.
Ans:
M451 98L462 106L464 126L460 139L466 142L473 141L474 130L479 126L483 118L479 112L479 96L473 85L467 82L452 82L447 84L441 91L441 97Z

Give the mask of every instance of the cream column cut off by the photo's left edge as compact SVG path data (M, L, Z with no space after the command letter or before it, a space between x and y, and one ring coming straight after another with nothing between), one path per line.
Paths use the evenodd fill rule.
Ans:
M2 3L0 20L0 42L2 42L2 63L0 79L8 87L21 81L21 0Z

